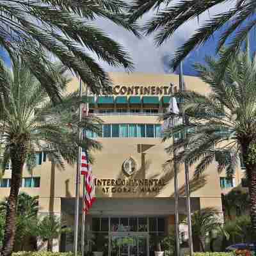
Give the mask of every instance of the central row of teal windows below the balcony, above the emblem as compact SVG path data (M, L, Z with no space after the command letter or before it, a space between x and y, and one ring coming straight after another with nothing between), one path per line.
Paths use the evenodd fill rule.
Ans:
M86 131L87 138L160 138L160 124L103 124L101 134Z

